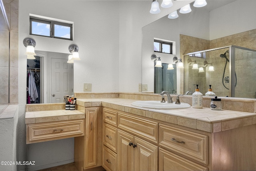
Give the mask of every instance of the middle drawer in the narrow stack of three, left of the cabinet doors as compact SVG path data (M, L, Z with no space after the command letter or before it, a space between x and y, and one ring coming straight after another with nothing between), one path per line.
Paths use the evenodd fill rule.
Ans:
M116 152L117 143L116 130L116 128L107 125L106 123L103 124L103 144L112 149L114 152Z

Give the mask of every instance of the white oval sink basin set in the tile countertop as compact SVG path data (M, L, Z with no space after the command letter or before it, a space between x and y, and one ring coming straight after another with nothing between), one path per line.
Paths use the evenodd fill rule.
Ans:
M190 107L188 103L161 103L160 101L134 101L133 106L146 107L151 109L184 109Z

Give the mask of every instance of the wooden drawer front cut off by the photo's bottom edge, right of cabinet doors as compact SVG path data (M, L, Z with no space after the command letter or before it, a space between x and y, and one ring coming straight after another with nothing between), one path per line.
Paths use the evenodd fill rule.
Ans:
M159 148L159 171L208 171L208 168Z

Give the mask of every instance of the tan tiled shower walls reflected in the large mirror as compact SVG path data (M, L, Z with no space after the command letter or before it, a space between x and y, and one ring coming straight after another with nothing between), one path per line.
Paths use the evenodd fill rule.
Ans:
M241 46L244 48L250 48L250 49L256 50L256 29L238 33L238 34L234 34L231 36L226 36L223 38L210 40L210 41L200 39L200 38L191 37L191 36L180 35L180 54L187 54L190 52L197 52L200 50L207 50L207 49L212 49L212 48L220 48L220 47L230 46L230 45ZM224 52L226 52L226 50L228 50L228 48L221 49L221 50L214 50L214 51L210 52L210 60L207 59L208 63L212 62L213 64L214 63L216 64L217 63L216 61L218 61L218 65L214 66L214 70L215 70L214 72L212 72L212 73L211 72L196 73L196 74L198 74L197 77L190 76L192 71L190 72L190 74L184 75L184 79L189 80L188 82L186 82L184 84L185 91L186 91L186 89L194 90L195 87L192 87L192 86L193 86L193 84L195 84L195 82L198 82L199 84L204 84L204 85L212 84L212 83L209 83L209 80L207 79L207 78L209 78L207 76L207 74L208 74L211 78L211 81L216 83L216 87L212 87L214 93L216 93L216 95L219 95L222 97L228 95L228 89L226 89L222 85L222 74L223 74L223 70L224 70L224 66L225 66L225 60L224 59L220 60L220 54L224 54ZM227 58L229 58L229 54L227 53L226 55L227 55ZM241 68L252 68L253 67L252 64L255 64L255 62L252 58L254 56L255 56L255 53L247 53L247 52L246 53L238 53L236 56L236 65L238 65L237 66L238 70L240 69L240 71L241 71ZM180 57L182 59L184 59L184 56L181 55ZM184 67L186 67L188 69L189 66L187 65L186 59L184 60ZM227 64L226 70L225 70L225 76L228 76L228 72L229 72L228 68L229 67ZM204 70L206 70L206 69L204 69ZM239 73L241 73L240 71L237 71L237 75ZM245 70L243 69L243 71L245 71ZM253 86L250 86L250 85L254 85L254 82L255 82L254 80L256 78L256 72L254 74L252 71L254 71L253 68L252 68L251 72L244 72L244 74L238 75L239 77L237 78L237 80L239 80L239 82L242 84L237 84L238 87L236 87L236 88L239 89L239 86L243 86L242 89L245 90L246 93L244 91L243 92L236 91L236 97L256 98L255 97L256 89L252 89ZM198 72L198 70L196 70L195 72ZM192 73L192 75L193 75L193 73ZM217 78L217 76L221 76L221 77ZM214 77L216 77L216 81L212 80L212 78L214 78ZM206 78L206 79L202 79L202 78ZM198 79L198 80L196 80L196 79ZM181 81L183 81L183 79ZM226 84L226 86L228 86L228 84ZM202 89L201 92L205 93L206 91L207 91L207 89L204 88L204 89Z

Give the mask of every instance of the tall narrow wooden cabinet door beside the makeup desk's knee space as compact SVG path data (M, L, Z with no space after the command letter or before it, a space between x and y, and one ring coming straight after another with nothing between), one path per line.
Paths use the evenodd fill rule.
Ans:
M85 109L85 167L94 166L97 161L97 112L97 107Z

